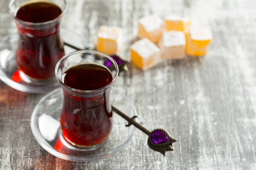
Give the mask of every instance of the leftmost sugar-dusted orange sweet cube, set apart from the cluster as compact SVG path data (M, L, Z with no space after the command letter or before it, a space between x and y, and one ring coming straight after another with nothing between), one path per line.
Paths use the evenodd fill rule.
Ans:
M108 55L118 54L122 47L122 29L115 26L101 26L98 33L97 49Z

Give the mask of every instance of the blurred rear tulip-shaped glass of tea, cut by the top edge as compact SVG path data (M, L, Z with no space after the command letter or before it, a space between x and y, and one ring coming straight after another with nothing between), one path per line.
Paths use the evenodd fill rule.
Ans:
M51 18L50 16L53 15L54 8L42 6L43 12L37 14L35 14L35 9L31 11L31 9L24 8L26 5L37 5L37 3L53 4L53 7L59 9L59 15L47 20L47 16ZM65 0L12 0L9 4L9 11L19 33L16 55L18 69L26 78L29 78L30 82L40 82L54 77L55 65L65 55L60 38L60 21L66 10ZM19 12L22 14L17 17ZM20 18L30 18L33 22ZM44 22L41 22L42 20Z

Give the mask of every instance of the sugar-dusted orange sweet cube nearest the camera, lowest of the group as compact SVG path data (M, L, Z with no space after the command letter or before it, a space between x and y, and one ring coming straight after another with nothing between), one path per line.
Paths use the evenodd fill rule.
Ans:
M131 61L143 70L147 70L161 62L160 48L147 38L134 42L130 50Z

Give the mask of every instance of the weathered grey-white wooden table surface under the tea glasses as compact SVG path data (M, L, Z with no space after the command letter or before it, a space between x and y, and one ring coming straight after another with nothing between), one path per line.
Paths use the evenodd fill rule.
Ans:
M164 157L136 131L118 153L97 161L72 162L47 153L35 140L29 119L44 94L26 94L0 81L0 169L255 170L256 1L253 0L68 0L63 26L96 42L99 26L124 29L125 56L140 17L188 16L209 24L207 56L168 60L141 71L130 65L114 87L128 96L138 122L169 130L178 142ZM0 38L16 30L0 4Z

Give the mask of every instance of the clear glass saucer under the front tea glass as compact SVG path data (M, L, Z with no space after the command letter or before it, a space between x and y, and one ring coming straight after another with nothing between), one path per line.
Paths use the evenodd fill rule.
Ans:
M62 136L59 116L62 109L62 89L58 88L45 95L36 105L30 119L30 126L37 142L49 153L69 161L89 161L111 156L131 140L135 127L126 127L127 121L113 112L113 129L108 140L96 150L84 151L68 144ZM131 101L112 89L111 104L127 116L137 115Z

